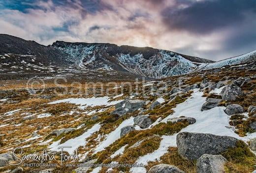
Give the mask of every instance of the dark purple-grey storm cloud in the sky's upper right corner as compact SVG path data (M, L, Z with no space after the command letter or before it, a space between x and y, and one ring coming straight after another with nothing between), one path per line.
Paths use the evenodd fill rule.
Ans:
M164 23L170 29L198 34L239 25L246 14L256 14L256 0L177 0L176 3L161 12Z

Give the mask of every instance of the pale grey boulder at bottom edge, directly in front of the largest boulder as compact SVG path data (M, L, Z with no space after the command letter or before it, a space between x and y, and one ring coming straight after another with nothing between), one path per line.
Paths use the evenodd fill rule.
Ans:
M196 173L225 173L222 155L203 154L196 162Z

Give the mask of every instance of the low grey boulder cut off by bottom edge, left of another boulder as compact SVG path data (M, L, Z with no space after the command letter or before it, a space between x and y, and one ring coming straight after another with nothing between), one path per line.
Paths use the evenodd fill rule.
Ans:
M185 173L185 172L173 165L159 164L150 168L148 173Z

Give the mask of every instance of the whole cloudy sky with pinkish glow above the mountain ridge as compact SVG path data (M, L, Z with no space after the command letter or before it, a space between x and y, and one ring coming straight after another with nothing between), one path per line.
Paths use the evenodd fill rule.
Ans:
M256 0L0 0L0 33L221 60L256 50Z

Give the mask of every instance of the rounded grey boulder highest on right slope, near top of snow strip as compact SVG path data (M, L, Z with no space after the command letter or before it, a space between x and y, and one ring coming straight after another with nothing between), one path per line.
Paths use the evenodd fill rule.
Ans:
M227 101L236 101L242 95L242 89L235 84L229 84L221 91L222 99Z

